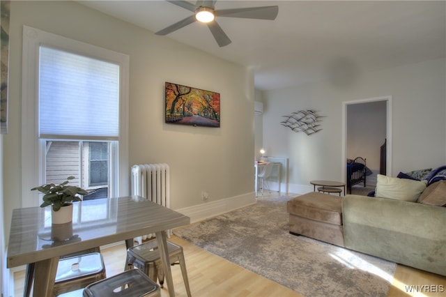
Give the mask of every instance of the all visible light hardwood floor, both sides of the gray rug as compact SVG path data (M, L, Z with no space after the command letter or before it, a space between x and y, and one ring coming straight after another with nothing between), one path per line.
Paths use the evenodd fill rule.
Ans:
M181 238L172 236L169 240L183 246L192 296L301 296L291 289L206 252ZM123 271L125 252L124 243L102 249L107 276ZM171 266L171 270L176 296L187 296L180 267ZM14 280L15 296L22 296L24 272L14 273ZM410 286L413 286L413 292L406 293L406 288ZM431 292L426 292L425 286L429 286ZM166 286L161 292L162 297L169 296ZM392 287L387 296L446 297L446 277L397 265Z

